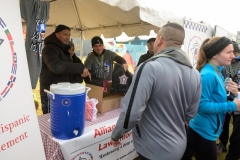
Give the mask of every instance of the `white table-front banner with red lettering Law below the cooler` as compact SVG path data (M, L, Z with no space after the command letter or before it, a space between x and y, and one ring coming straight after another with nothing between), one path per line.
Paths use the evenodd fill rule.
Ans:
M81 137L56 140L61 146L64 159L68 160L133 160L138 157L132 141L132 131L126 133L115 148L110 142L117 118L85 128Z

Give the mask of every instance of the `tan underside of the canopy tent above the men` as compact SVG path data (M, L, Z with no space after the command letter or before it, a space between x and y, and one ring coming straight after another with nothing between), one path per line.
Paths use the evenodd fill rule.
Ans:
M128 36L148 35L150 30L159 30L159 27L142 21L139 13L139 7L124 11L99 0L56 0L50 3L46 35L58 24L72 28L75 38L84 32L84 39L101 34L113 38L122 32Z

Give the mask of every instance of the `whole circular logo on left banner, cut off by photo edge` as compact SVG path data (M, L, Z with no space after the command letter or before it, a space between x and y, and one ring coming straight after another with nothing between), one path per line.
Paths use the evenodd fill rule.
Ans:
M17 73L17 53L14 40L7 24L0 17L0 102L14 87Z

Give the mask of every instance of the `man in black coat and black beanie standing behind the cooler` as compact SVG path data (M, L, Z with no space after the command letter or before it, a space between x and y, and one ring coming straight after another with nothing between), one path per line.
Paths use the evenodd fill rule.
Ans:
M72 82L72 74L89 76L88 70L81 63L72 63L67 49L70 39L70 28L58 25L55 31L45 38L42 51L42 70L40 74L40 95L43 114L49 113L49 102L44 89L51 84Z

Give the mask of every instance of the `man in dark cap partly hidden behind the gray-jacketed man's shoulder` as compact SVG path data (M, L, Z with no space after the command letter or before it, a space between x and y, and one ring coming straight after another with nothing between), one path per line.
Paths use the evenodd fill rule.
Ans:
M151 58L154 55L153 45L154 45L155 40L156 40L156 38L150 38L147 41L148 51L147 51L146 54L141 55L141 57L139 58L137 66L139 66L142 62L145 62L146 60L148 60L149 58Z

